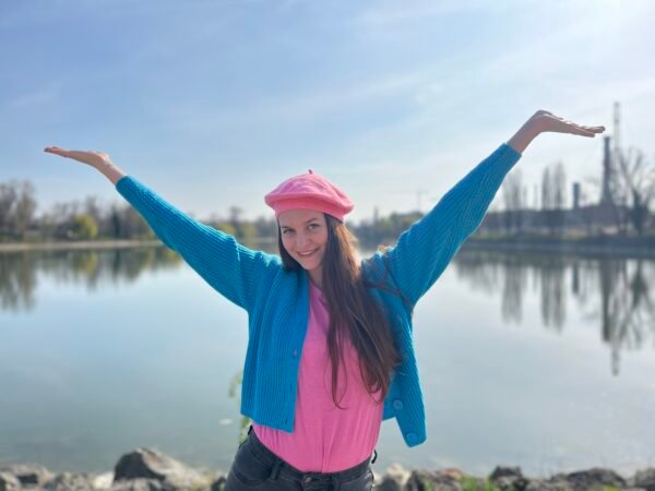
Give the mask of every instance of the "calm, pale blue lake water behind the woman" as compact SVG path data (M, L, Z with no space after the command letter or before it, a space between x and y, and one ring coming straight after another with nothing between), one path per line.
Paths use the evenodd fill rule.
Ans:
M655 262L462 251L415 311L428 440L378 460L529 476L655 465ZM0 254L0 465L139 446L227 470L247 316L165 248Z

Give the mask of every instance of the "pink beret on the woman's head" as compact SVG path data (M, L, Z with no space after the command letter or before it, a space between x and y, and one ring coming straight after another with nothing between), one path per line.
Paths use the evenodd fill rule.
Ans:
M275 218L287 209L317 209L343 221L354 208L346 193L311 169L284 181L264 201L275 211Z

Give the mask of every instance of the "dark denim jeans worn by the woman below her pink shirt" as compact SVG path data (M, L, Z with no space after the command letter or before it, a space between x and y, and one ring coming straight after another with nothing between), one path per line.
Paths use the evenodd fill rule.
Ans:
M224 491L370 491L373 472L362 463L338 472L303 472L271 452L257 438L252 424L227 475Z

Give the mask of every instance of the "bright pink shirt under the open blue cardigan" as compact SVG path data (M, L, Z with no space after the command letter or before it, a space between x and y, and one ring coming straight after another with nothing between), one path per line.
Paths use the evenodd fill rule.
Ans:
M384 405L380 393L369 394L359 373L358 354L345 345L340 364L336 400L332 400L332 363L327 350L330 313L321 290L309 282L309 323L298 372L294 432L252 424L262 443L275 455L305 472L337 472L366 460L373 453ZM346 384L346 374L348 380ZM345 391L345 394L344 394Z

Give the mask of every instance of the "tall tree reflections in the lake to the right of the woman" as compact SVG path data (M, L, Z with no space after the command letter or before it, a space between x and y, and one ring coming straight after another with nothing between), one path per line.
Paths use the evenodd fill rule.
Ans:
M575 258L501 251L462 251L454 261L457 275L473 289L502 291L505 322L521 322L527 278L539 289L541 321L561 332L569 295L583 319L597 322L602 339L611 349L611 370L619 373L622 349L640 349L653 336L655 303L650 287L655 283L655 262L626 258Z

